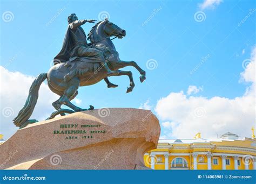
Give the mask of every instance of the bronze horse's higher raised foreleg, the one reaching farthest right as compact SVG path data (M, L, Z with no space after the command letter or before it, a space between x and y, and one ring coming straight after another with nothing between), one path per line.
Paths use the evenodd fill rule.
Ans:
M118 62L111 62L111 66L113 67L114 70L117 70L119 68L124 68L126 66L133 66L136 68L139 73L140 73L140 82L143 82L146 79L146 72L139 67L139 65L135 61L118 61Z

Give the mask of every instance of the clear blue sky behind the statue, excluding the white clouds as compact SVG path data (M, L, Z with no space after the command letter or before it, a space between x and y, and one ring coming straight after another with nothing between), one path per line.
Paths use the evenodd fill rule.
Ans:
M107 12L111 22L126 30L126 37L113 40L120 58L136 61L146 70L147 78L140 83L137 70L127 67L125 70L132 71L136 83L132 93L126 94L129 86L126 76L110 77L118 88L108 89L104 81L79 88L80 106L138 108L147 102L144 107L150 106L159 114L154 109L161 98L181 90L186 93L188 86L202 87L193 97L232 100L244 95L251 86L250 82L239 81L240 73L245 70L242 61L251 58L255 46L255 8L255 1L225 0L213 4L203 0L1 1L1 14L12 13L10 22L3 17L1 20L1 66L9 72L30 76L47 72L62 46L68 15L76 13L79 19L98 20L100 13ZM201 22L195 18L199 11L204 13ZM86 33L91 26L83 25ZM148 60L156 62L157 67L149 69ZM191 74L200 63L203 64ZM160 123L173 122L172 117L166 119L160 114L158 117ZM1 119L2 124L7 123L5 117ZM250 136L252 123L242 136ZM172 132L170 126L166 128L162 127L162 136L175 137L168 134ZM5 132L3 128L1 131ZM193 133L197 131L201 130Z

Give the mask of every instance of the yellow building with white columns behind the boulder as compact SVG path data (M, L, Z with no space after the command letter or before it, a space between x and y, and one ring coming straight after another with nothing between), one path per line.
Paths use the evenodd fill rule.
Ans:
M159 139L144 155L152 169L256 169L256 139L227 132L220 138Z

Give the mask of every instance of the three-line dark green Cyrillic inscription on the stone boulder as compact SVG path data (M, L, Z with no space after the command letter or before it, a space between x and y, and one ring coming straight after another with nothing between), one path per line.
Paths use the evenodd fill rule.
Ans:
M98 133L106 133L106 130L97 130L100 126L102 125L60 124L60 130L53 130L53 134L65 135L65 139L91 139Z

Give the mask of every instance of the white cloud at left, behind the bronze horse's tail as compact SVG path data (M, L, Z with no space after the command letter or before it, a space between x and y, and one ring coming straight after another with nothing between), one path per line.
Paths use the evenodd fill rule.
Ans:
M24 75L19 72L9 72L0 66L0 99L1 99L1 129L0 133L4 139L12 136L18 128L12 123L28 96L29 88L35 79L33 76ZM52 93L46 83L42 83L35 110L30 119L42 121L49 117L55 109L51 103L59 98ZM10 114L8 114L10 112Z

